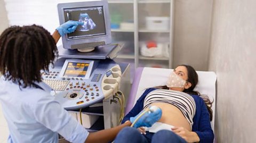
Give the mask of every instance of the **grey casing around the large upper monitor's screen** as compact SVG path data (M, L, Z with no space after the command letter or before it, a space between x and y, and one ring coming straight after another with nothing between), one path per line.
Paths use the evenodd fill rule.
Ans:
M89 2L74 2L74 3L60 3L58 4L58 14L60 24L65 23L65 9L81 9L84 7L103 7L104 22L106 35L93 36L93 37L81 37L81 38L72 38L69 39L67 35L62 36L63 48L66 49L75 49L72 48L72 45L86 44L86 43L97 43L105 42L105 44L111 43L111 28L110 28L110 16L108 10L108 2L103 1L89 1ZM84 47L86 48L86 47Z

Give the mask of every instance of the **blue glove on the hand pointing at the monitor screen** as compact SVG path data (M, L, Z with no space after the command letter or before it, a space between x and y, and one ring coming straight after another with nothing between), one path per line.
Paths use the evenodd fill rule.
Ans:
M69 20L69 21L61 24L61 26L59 26L56 29L60 33L60 36L63 36L67 33L74 32L78 25L83 25L83 24L84 24L83 22Z

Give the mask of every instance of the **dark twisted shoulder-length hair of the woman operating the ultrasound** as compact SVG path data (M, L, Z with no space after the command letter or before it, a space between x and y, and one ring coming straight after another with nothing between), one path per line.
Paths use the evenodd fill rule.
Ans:
M0 72L23 88L41 82L41 70L49 72L55 56L56 43L41 26L12 26L0 36Z

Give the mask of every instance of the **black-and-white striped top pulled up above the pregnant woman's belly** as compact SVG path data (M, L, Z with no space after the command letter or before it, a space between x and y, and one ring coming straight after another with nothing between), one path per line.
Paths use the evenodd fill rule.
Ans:
M167 89L156 89L149 92L144 100L144 108L147 108L152 103L169 103L182 112L190 123L190 127L193 125L193 117L196 113L196 103L193 97L185 92L167 90Z

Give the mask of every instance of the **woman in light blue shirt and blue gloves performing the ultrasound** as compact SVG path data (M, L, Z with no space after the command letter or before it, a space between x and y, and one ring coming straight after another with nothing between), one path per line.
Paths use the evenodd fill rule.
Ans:
M60 36L74 32L78 21L63 23L53 35L41 26L12 26L0 36L0 103L9 127L7 142L58 142L58 133L70 142L109 142L118 127L89 133L50 95L41 77L58 55ZM161 114L145 114L135 127L150 126ZM147 120L146 120L147 118Z

